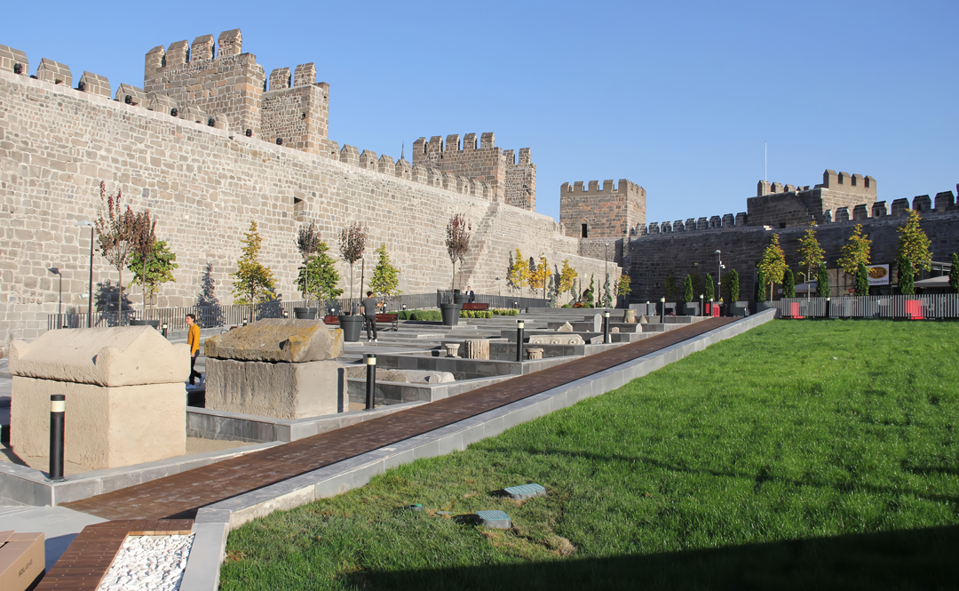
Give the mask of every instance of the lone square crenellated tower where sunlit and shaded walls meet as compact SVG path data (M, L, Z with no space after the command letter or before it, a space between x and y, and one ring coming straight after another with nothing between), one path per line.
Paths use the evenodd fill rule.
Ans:
M646 190L620 178L614 189L612 180L564 182L559 189L559 222L573 238L612 238L629 235L629 228L646 224Z

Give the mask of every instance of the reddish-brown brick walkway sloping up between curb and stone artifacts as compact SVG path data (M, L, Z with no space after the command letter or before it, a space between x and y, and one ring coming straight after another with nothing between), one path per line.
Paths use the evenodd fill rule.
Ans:
M705 319L562 366L142 485L65 503L63 507L104 519L193 518L201 507L492 411L681 343L733 320Z

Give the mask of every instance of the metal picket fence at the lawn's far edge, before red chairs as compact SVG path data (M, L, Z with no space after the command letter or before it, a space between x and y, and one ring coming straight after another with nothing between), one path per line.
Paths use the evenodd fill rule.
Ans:
M763 301L758 309L776 308L782 318L959 319L959 295L851 295L784 297Z

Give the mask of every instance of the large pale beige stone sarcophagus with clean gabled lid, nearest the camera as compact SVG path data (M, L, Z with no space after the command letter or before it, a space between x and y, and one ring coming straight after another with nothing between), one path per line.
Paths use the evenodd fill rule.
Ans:
M91 469L186 453L190 347L150 326L52 330L11 343L11 446L50 450L50 395L66 395L64 459Z

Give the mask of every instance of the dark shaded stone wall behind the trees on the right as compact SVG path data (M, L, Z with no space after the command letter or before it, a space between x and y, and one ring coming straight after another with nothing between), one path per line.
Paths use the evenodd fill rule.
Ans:
M951 193L949 193L951 195ZM918 199L918 198L917 198ZM944 201L945 201L944 197ZM931 241L933 260L949 261L952 252L959 251L959 207L952 206L942 211L926 211L922 226ZM865 220L817 225L816 238L826 250L826 267L831 270L830 286L832 295L846 293L852 287L852 280L845 272L836 272L840 250L852 235L854 226L862 224L863 232L873 241L872 262L894 263L899 235L896 230L905 221L905 213L898 216L871 217ZM799 269L799 239L805 235L807 227L793 226L784 229L767 229L762 226L741 226L736 229L706 229L695 232L672 232L669 234L647 235L631 240L627 245L626 270L633 279L633 300L658 300L665 294L667 274L671 271L677 282L677 294L680 297L683 277L687 273L704 279L706 273L717 278L719 256L726 265L723 271L723 283L733 269L739 274L739 299L752 299L755 289L755 269L762 250L769 244L773 233L778 233L780 245L785 252L786 264L793 272ZM836 285L836 281L840 285ZM797 276L801 283L803 277ZM724 287L725 290L725 287ZM698 296L698 295L697 295ZM728 297L724 292L724 297Z

